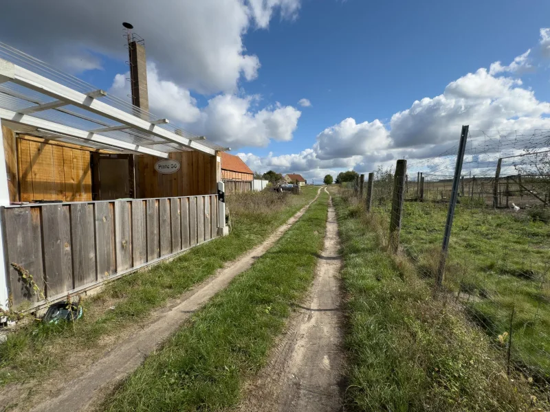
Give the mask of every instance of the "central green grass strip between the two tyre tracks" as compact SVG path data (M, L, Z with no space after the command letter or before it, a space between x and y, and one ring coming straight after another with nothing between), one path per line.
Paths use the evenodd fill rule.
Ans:
M108 398L102 411L217 411L239 401L265 365L295 302L311 285L322 249L322 192L252 268L199 310Z

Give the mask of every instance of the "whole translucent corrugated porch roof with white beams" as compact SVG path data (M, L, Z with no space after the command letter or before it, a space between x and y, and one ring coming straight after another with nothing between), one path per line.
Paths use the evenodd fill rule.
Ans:
M228 150L3 43L0 119L46 139L116 152L166 158L175 151Z

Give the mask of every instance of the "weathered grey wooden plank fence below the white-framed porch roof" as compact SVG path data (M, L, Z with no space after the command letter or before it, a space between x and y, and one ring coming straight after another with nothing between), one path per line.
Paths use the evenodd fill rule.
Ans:
M54 301L216 238L217 211L215 195L3 207L13 306L41 298L12 263Z

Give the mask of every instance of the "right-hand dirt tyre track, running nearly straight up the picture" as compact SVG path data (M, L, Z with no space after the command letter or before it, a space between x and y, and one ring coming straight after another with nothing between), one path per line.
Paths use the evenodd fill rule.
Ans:
M325 189L326 190L326 189ZM287 327L270 362L247 389L241 411L342 410L344 370L336 211L329 200L327 231L309 298Z

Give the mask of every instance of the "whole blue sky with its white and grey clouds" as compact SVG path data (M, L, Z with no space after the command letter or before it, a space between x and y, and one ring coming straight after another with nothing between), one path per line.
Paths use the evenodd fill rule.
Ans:
M129 21L152 113L311 180L431 159L463 124L550 129L550 2L526 4L21 0L0 41L126 98Z

